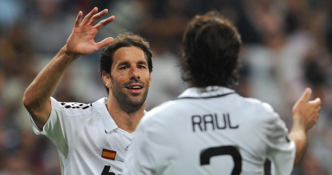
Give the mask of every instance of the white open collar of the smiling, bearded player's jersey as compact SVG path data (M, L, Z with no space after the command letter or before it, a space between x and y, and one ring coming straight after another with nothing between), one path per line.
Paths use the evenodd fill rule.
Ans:
M107 103L107 101L108 98L106 97L101 98L96 102L92 103L92 107L95 108L101 114L102 121L104 124L104 129L108 133L114 129L117 129L118 125L115 123L115 121L113 120L112 116L110 115L110 113L106 108L105 104ZM146 113L147 112L144 110L144 114Z

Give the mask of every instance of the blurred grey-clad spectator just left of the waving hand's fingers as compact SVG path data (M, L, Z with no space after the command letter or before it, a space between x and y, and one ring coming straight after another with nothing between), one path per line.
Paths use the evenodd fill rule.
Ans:
M25 32L42 59L52 58L68 38L75 15L64 11L64 0L34 0L30 4ZM75 9L71 9L76 13ZM41 54L41 55L39 55Z

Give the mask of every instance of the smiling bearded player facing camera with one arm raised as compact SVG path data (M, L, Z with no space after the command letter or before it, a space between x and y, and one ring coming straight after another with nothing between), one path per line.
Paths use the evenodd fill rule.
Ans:
M61 174L122 174L133 132L146 113L145 99L151 83L152 52L148 42L132 33L95 43L98 30L111 16L94 8L83 20L78 13L67 43L27 88L23 103L36 134L57 147ZM109 94L92 104L58 102L51 97L68 66L80 55L104 47L100 70Z

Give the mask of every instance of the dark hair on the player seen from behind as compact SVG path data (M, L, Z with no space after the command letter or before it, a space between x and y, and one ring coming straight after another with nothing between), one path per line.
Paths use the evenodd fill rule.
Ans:
M197 15L183 34L182 79L194 87L232 87L240 46L237 29L218 12Z

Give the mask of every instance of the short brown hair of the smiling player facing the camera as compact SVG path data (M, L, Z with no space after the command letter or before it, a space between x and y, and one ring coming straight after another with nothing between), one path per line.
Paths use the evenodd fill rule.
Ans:
M152 72L152 52L149 47L149 43L142 36L133 34L132 32L125 32L119 34L114 41L105 46L100 55L100 73L109 73L111 75L111 67L113 64L113 55L121 47L136 46L143 50L145 58L147 60L147 65L149 72ZM109 93L109 88L106 87L107 93Z

